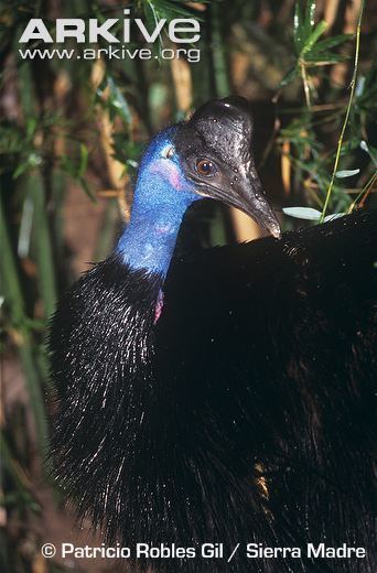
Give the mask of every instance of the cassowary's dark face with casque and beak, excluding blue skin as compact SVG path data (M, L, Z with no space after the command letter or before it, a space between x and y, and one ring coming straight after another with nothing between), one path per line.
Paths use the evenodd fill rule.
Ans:
M179 126L174 141L195 193L244 210L274 237L280 236L256 171L252 117L246 99L229 97L205 104Z

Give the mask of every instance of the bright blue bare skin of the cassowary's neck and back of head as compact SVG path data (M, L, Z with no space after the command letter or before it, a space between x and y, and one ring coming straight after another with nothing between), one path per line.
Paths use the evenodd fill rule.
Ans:
M173 147L176 128L160 133L148 148L140 165L131 219L121 235L117 252L131 269L144 269L165 278L182 217L200 199L186 180Z

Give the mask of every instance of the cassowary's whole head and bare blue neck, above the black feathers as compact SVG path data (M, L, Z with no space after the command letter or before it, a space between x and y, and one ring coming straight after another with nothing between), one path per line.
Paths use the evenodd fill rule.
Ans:
M240 97L212 100L185 122L161 131L138 174L131 220L118 251L132 268L165 274L190 205L214 198L280 236L255 169L252 119Z

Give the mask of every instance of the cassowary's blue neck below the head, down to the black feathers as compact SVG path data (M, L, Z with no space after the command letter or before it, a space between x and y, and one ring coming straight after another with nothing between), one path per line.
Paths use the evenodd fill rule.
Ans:
M117 251L131 269L144 269L164 278L173 256L187 203L176 190L153 179L138 182L131 219L119 239ZM159 202L163 197L163 203Z

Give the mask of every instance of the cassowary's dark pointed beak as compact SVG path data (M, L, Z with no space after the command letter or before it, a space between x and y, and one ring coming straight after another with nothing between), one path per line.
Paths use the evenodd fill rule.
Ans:
M247 174L245 177L231 183L230 193L212 187L207 196L218 199L230 207L237 207L249 215L258 225L267 229L273 237L280 239L280 225L265 197L259 179L252 179Z

